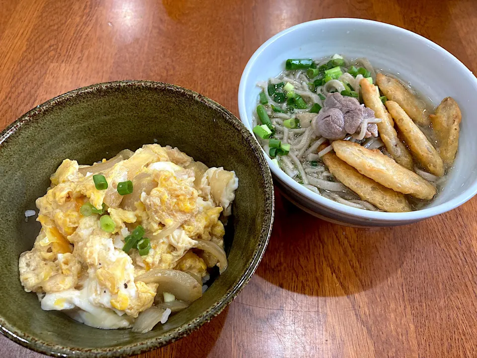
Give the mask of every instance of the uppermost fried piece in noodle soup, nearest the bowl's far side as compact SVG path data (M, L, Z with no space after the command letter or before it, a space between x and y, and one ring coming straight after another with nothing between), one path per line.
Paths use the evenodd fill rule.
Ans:
M388 99L397 102L416 124L429 125L424 102L409 92L399 81L383 74L377 74L376 85Z

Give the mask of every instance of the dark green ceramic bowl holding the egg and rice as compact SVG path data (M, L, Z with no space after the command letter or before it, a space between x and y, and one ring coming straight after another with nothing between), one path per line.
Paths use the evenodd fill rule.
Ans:
M229 267L203 297L146 334L100 330L40 308L23 290L18 257L40 225L25 222L63 159L81 164L124 148L154 143L178 147L209 167L234 170L239 189L226 227ZM248 282L267 246L273 184L261 148L227 109L188 89L122 81L76 89L32 109L0 134L0 332L55 357L127 357L189 334L218 315Z

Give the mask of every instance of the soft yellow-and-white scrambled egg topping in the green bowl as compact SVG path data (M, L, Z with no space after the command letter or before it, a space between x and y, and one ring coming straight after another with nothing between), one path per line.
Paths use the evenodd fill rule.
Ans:
M108 188L98 190L94 174ZM127 328L153 305L157 283L135 282L150 269L178 269L200 280L217 264L208 253L190 249L197 240L223 248L224 225L238 179L223 168L207 168L177 148L145 145L130 157L118 155L92 166L65 159L38 198L41 231L32 250L19 259L25 291L36 292L44 310L67 310L74 319L100 328ZM133 193L117 185L132 180ZM81 207L96 211L83 216ZM86 214L87 215L87 214ZM114 229L101 228L109 215ZM125 238L141 225L151 241L141 256L122 250Z

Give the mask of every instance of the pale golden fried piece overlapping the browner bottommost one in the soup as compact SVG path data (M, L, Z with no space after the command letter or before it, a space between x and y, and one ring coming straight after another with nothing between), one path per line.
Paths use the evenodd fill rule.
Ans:
M369 150L350 141L334 141L332 145L339 159L390 189L419 199L432 199L436 194L436 189L429 182L379 150Z

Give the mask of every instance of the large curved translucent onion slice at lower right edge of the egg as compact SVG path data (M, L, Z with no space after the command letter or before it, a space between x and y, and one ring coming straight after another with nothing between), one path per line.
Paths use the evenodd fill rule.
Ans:
M172 293L181 301L192 302L202 297L202 284L186 272L173 269L152 269L135 278L144 283L159 283L158 293Z

